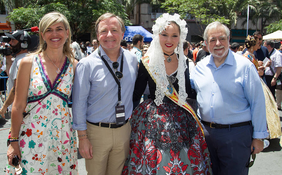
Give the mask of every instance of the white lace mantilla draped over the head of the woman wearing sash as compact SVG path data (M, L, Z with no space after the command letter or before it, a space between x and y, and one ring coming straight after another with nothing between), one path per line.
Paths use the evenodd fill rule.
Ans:
M169 13L164 13L162 17L157 18L156 23L153 25L153 41L151 42L150 47L148 48L147 55L149 56L149 71L156 76L156 99L154 102L156 105L163 104L163 99L165 97L165 93L170 94L168 92L168 85L169 82L166 78L166 71L165 71L165 57L162 50L162 47L159 42L159 34L165 30L165 28L170 24L170 21L175 21L180 26L180 40L178 43L178 47L175 48L175 53L179 54L178 60L178 68L177 68L177 75L176 78L178 79L179 85L179 100L178 104L183 105L185 103L185 99L187 97L187 93L185 92L185 69L187 68L186 65L186 58L183 53L183 41L186 38L188 29L185 27L186 22L185 20L180 19L179 14L170 15Z

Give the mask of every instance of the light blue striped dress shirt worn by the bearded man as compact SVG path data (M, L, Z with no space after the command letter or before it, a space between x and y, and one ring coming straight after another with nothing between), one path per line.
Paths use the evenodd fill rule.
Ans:
M212 55L202 59L190 74L198 115L218 124L252 121L253 138L266 138L264 92L253 63L230 49L218 68L213 59Z

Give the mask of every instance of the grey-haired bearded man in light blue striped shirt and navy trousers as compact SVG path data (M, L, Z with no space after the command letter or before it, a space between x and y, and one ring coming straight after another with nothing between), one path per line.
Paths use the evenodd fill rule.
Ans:
M251 153L262 151L268 136L259 74L252 62L229 49L229 34L220 22L206 27L211 55L190 75L215 175L248 174Z

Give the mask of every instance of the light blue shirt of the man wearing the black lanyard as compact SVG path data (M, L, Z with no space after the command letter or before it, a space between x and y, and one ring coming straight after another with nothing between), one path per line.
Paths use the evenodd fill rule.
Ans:
M103 48L99 47L101 56L112 68L112 61ZM138 74L138 62L128 50L120 47L117 62L120 71L123 56L123 78L121 84L121 105L125 106L125 119L132 113L132 96ZM112 68L113 72L115 70ZM115 106L118 103L118 84L97 50L81 59L76 65L76 74L72 91L72 115L75 130L86 130L86 120L93 123L115 123Z

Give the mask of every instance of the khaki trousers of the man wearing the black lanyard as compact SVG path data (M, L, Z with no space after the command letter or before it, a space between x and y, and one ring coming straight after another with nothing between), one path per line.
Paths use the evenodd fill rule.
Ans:
M93 158L85 159L87 175L120 175L129 154L131 125L105 128L87 123Z

